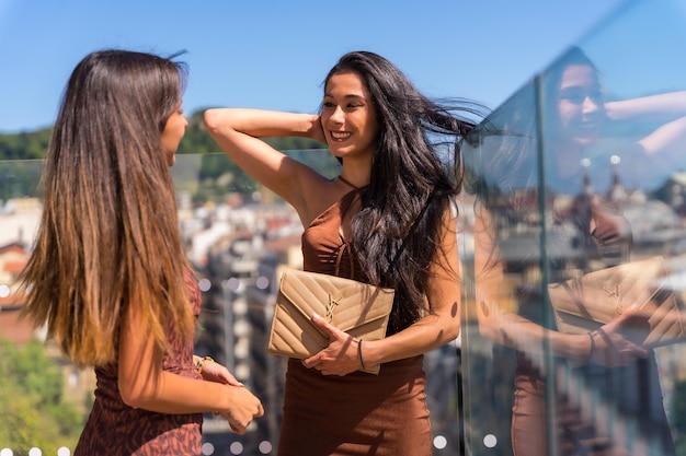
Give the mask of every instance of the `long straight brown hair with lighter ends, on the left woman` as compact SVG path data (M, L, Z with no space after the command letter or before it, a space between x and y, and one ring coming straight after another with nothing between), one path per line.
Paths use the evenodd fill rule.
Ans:
M42 177L44 210L22 274L22 316L78 364L116 360L123 315L137 306L165 348L169 325L194 331L176 202L160 135L187 69L127 50L73 70Z

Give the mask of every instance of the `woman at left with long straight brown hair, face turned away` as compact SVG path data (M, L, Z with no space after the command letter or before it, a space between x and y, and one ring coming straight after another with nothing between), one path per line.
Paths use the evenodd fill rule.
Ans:
M85 56L53 130L23 315L95 366L75 455L199 455L203 412L241 434L263 413L226 367L193 355L201 294L169 172L186 67L172 58Z

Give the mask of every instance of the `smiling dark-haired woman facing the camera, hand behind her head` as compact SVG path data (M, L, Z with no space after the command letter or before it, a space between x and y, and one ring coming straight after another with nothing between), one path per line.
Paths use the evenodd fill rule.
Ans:
M312 316L330 344L288 361L278 454L430 455L422 354L459 332L455 139L472 124L368 51L348 52L331 69L319 115L220 108L207 110L205 122L238 165L295 208L305 270L396 289L384 340L361 347ZM453 137L450 172L433 133ZM325 178L259 139L270 136L325 142L342 162L340 175ZM380 364L378 376L357 372L363 364Z

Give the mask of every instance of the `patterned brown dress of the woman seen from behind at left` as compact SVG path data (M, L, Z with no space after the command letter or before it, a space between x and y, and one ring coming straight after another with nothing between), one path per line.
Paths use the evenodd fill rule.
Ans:
M201 311L201 292L186 274L193 312ZM193 344L184 344L170 328L170 351L162 361L165 371L201 378L193 365ZM75 456L199 455L202 413L167 414L134 409L122 400L117 388L117 363L95 367L95 402L81 433Z

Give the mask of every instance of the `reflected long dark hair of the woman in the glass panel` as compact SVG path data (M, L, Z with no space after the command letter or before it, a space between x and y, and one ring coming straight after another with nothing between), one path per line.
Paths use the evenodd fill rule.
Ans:
M491 244L494 248L500 245L504 230L499 224L514 223L512 220L522 220L529 212L539 211L540 186L550 187L564 180L556 178L557 157L551 152L560 140L558 104L562 77L572 66L590 67L599 73L581 48L571 46L466 138L469 144L475 144L476 153L466 155L465 188L491 212L483 223L489 227L485 233L493 236ZM541 156L544 152L545 156ZM545 168L541 168L541 160ZM583 190L581 178L571 185L575 190ZM584 192L576 195L572 211L576 218L573 223L586 243L591 242L591 201L587 198ZM493 217L496 212L500 212L499 222ZM487 268L501 259L494 249Z

